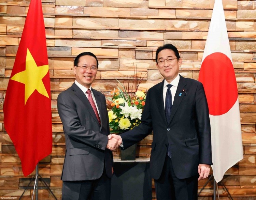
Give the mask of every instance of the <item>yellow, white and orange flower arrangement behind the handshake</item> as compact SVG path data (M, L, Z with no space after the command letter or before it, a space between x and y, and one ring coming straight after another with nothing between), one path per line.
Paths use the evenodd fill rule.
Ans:
M117 80L118 81L118 80ZM112 98L108 98L111 102L111 110L108 111L109 125L111 133L123 133L140 123L142 110L145 105L145 91L138 91L137 84L135 91L129 91L121 84L122 89L111 91Z

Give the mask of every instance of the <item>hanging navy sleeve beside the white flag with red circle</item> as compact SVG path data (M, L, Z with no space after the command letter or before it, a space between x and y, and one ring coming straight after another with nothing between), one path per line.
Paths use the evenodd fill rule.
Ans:
M199 140L199 163L212 165L211 126L209 108L203 84L199 82L195 95L196 123Z

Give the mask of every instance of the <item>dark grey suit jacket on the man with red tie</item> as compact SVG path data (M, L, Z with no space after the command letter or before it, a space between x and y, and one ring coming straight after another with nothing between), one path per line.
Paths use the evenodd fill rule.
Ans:
M106 174L112 177L113 154L106 149L110 130L105 96L94 89L92 92L101 125L88 98L75 83L58 96L58 112L66 140L62 181L98 179L104 163Z

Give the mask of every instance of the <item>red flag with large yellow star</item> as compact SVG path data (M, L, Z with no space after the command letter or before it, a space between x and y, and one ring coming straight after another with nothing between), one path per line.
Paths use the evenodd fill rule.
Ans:
M4 100L4 127L24 176L52 152L49 65L41 0L31 0Z

